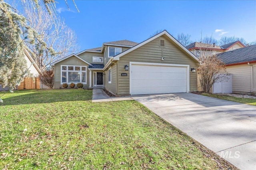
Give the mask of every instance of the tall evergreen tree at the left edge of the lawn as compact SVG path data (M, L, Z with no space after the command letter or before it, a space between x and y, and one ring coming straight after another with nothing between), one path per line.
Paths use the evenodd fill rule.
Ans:
M26 19L0 0L0 83L15 88L28 74L23 41L30 39L32 30ZM33 39L33 38L31 38Z

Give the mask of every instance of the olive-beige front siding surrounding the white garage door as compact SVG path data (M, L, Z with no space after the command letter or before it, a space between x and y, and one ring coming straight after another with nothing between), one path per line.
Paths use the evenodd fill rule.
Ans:
M185 64L190 65L190 68L196 68L196 61L183 52L180 47L174 45L175 43L170 42L164 36L161 36L160 39L165 40L164 48L159 47L159 38L156 38L142 47L120 57L117 64L118 95L130 94L130 75L129 71L124 70L124 66L130 65L130 62ZM161 60L162 57L164 57L164 61ZM121 76L121 73L127 73L128 76ZM192 72L190 72L190 91L197 91L197 76L196 73Z

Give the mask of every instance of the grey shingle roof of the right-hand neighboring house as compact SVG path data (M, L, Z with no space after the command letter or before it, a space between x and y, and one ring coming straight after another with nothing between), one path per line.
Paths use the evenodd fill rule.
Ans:
M217 54L225 64L256 61L256 45Z

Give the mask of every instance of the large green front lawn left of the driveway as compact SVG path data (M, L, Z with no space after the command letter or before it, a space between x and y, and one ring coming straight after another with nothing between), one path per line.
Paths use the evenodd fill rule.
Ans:
M136 101L92 103L82 89L2 99L0 169L235 169Z

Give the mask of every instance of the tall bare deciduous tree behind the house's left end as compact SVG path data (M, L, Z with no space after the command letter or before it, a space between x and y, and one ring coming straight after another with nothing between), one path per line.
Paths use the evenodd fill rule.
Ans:
M38 33L35 35L36 43L26 43L26 47L40 70L44 71L51 63L79 50L76 34L60 17L49 14L44 5L36 6L34 1L21 1L21 4L22 14L30 27Z

